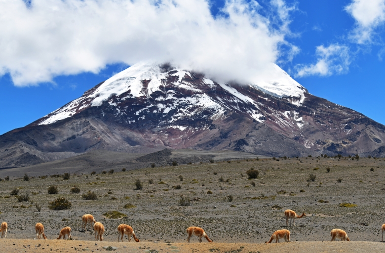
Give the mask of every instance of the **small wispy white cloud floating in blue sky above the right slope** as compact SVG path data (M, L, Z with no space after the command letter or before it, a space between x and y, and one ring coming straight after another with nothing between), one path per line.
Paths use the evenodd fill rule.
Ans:
M349 70L351 63L349 48L344 45L332 44L329 47L323 45L316 48L317 63L295 67L296 77L309 75L329 76L342 74Z

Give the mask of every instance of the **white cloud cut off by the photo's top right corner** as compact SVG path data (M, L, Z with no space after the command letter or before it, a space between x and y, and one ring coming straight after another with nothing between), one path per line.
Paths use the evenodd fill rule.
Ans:
M374 29L385 21L385 0L353 0L345 11L356 21L350 38L358 44L371 43Z

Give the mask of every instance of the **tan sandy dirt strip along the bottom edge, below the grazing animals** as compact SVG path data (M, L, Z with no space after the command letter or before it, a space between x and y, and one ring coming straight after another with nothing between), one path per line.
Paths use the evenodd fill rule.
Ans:
M15 244L15 245L14 245ZM40 244L40 246L39 246ZM7 252L74 252L107 251L103 247L116 247L112 252L383 252L385 244L363 241L312 241L281 243L154 243L154 242L96 242L78 240L1 240Z

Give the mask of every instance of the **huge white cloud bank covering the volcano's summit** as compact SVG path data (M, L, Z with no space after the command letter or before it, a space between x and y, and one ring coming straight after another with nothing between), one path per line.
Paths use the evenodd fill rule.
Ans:
M280 45L287 44L291 7L272 1L281 19L273 28L254 0L227 0L226 15L216 18L209 4L33 0L27 7L22 0L0 0L0 75L10 73L16 86L27 86L57 75L96 73L106 64L151 60L202 71L218 81L247 81L277 61Z

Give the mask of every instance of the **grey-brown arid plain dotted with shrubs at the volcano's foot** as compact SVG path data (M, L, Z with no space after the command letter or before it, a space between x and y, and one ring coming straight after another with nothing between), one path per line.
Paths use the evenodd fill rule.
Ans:
M23 239L36 237L34 225L37 222L45 225L48 239L56 239L61 228L70 226L73 239L92 241L95 239L93 231L85 232L81 229L81 217L89 213L106 228L105 242L98 242L98 245L84 242L84 245L93 245L95 248L92 250L104 250L101 246L109 242L119 247L116 242L117 227L125 223L133 227L141 242L132 240L129 244L121 243L120 250L135 247L148 251L150 249L143 247L151 245L151 249L160 250L163 247L166 251L181 252L191 252L194 247L203 247L201 251L212 249L218 252L231 252L228 251L231 249L245 252L274 251L277 246L255 243L267 241L275 230L286 229L285 209L293 209L298 215L304 212L306 217L297 219L296 227L287 228L291 232L290 239L295 243L292 246L280 243L281 247L297 245L300 251L300 248L305 250L310 245L316 245L312 241L317 241L317 245L321 245L320 251L323 251L322 243L325 243L325 247L330 246L330 250L340 247L357 251L360 248L358 244L347 246L350 242L325 242L331 239L330 230L333 228L345 230L352 241L381 241L380 227L385 223L384 158L360 157L358 161L348 157L277 159L260 157L257 160L255 156L138 170L126 168L125 172L122 172L122 167L120 170L115 169L112 174L108 173L109 167L103 167L95 171L94 175L71 174L68 180L62 177L42 177L49 175L48 172L42 173L40 177L34 176L29 181L11 177L10 181L0 182L0 221L6 221L9 225L6 244L14 241L15 250L18 244L25 245L25 250L28 244L31 250L38 243L51 244L50 248L58 245L58 242L50 240L22 242ZM246 172L251 168L259 172L257 179L248 179ZM310 174L315 175L315 181L307 181ZM141 190L135 190L137 179L143 184ZM151 180L152 183L149 182ZM70 191L75 185L81 189L79 194ZM178 185L180 189L177 189ZM58 194L48 194L49 186L56 186ZM29 192L30 200L18 202L11 195L14 188L19 189L19 195ZM82 194L89 191L96 193L98 198L84 200ZM187 197L191 205L181 206L181 195ZM71 209L48 208L48 203L59 196L71 202ZM42 206L41 212L37 212L36 203ZM356 206L344 207L340 206L341 203ZM107 218L109 211L117 211L126 216ZM198 245L197 237L193 237L187 246L185 230L189 226L202 227L214 243L203 239ZM304 246L306 244L302 242L309 242L309 245ZM73 243L82 244L63 241L53 250L73 250L71 247L76 247ZM128 248L123 248L123 245ZM175 248L172 245L176 245ZM368 245L365 247L373 246L372 250L382 248L380 243ZM81 249L80 246L76 248Z

